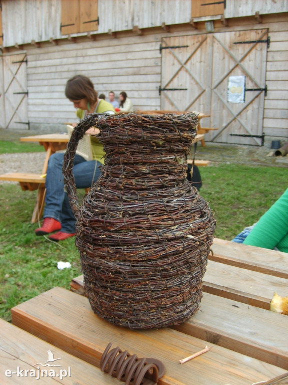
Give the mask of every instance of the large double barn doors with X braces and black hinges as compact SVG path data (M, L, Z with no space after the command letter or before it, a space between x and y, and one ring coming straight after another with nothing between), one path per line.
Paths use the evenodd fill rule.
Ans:
M161 109L209 113L202 126L217 130L206 140L261 145L267 38L267 30L164 38ZM245 84L239 103L228 96L235 77Z

